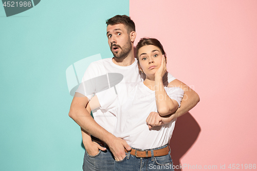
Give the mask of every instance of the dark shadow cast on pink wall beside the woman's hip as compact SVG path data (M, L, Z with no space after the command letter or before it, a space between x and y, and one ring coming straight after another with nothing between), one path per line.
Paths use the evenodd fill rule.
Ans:
M180 159L187 153L200 134L201 128L192 115L187 112L176 121L170 141L171 158L174 166L179 166ZM177 166L177 167L178 167ZM176 171L181 171L178 168Z

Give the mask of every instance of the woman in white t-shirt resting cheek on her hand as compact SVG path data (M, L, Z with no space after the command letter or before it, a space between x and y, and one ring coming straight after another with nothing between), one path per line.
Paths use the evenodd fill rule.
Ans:
M172 170L168 142L175 120L160 125L156 118L177 110L183 90L163 86L162 77L167 71L166 53L157 39L143 38L136 48L139 70L145 74L144 82L124 85L128 93L116 95L112 89L96 93L89 105L91 109L99 107L92 105L92 102L98 101L102 109L115 113L117 123L114 135L132 147L131 151L126 151L123 160L115 161L115 170L139 170L142 167ZM112 103L105 103L106 98ZM158 111L160 116L149 115L152 111Z

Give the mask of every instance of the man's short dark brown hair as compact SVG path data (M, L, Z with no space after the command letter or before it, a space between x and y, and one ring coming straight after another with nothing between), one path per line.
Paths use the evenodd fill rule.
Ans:
M127 28L127 33L130 34L132 31L136 31L136 26L133 20L127 15L115 15L106 21L108 25L124 24Z

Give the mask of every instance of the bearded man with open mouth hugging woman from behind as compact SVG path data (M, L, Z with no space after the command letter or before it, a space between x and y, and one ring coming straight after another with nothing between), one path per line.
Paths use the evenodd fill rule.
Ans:
M100 60L90 64L84 74L82 84L75 93L69 111L69 116L81 126L83 130L82 135L87 136L85 138L86 142L84 142L83 138L86 149L83 164L84 170L112 170L114 159L117 161L122 160L125 157L124 148L130 150L131 147L124 140L112 134L116 122L113 113L98 109L96 112L93 112L95 120L90 116L87 110L90 107L87 104L91 97L93 97L93 93L99 91L99 88L95 88L95 92L88 94L86 92L88 84L85 85L83 83L106 73L121 73L123 75L123 83L142 81L139 75L137 61L134 58L134 41L137 35L134 22L126 15L116 15L107 20L106 24L108 44L114 54L114 58ZM150 127L170 122L172 119L189 111L199 102L198 94L187 85L176 80L171 74L168 73L164 81L169 83L168 87L182 88L185 91L185 98L181 101L180 108L168 117L160 117L158 113L151 112L150 115L156 118L156 122L149 124ZM90 86L94 87L94 84L90 83ZM106 89L106 87L102 89ZM121 92L118 91L118 93ZM99 138L99 141L104 142L108 148L106 149L92 142L88 138L89 134Z

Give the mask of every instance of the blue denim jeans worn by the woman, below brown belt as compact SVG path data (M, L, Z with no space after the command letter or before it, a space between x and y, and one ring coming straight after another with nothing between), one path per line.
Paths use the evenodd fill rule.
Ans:
M154 148L154 149L161 149L167 146L168 144L162 147ZM151 149L152 154L154 149ZM133 156L130 154L130 152L128 152L126 153L126 157L123 160L114 162L115 171L120 171L120 170L122 171L124 170L125 171L173 170L174 171L172 166L173 166L173 163L172 163L170 152L166 156L148 157L148 158L137 158L136 156Z

